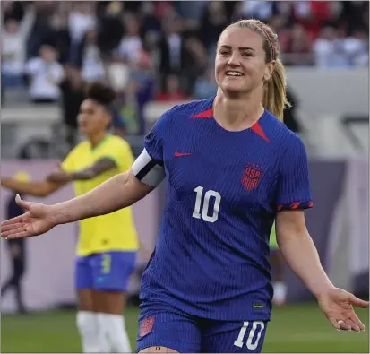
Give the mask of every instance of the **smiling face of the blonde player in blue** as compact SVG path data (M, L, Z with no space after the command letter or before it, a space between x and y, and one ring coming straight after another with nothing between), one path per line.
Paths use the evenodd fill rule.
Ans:
M222 91L240 94L262 88L273 68L273 61L266 63L264 39L254 30L229 27L221 34L215 71Z

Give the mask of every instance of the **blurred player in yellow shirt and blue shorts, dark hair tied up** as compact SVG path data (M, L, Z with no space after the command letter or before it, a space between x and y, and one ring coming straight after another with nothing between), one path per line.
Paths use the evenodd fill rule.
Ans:
M133 154L128 143L108 134L113 99L115 92L106 85L90 84L78 116L87 140L77 145L61 168L43 182L3 178L2 186L18 193L47 196L73 182L76 195L83 195L131 168ZM123 311L137 249L131 208L80 222L75 287L77 326L84 352L131 352Z

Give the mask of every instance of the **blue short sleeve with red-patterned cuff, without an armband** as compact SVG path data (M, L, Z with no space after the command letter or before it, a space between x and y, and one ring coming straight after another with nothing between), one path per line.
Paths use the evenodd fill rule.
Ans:
M297 135L292 136L281 156L276 199L278 212L314 206L305 146Z

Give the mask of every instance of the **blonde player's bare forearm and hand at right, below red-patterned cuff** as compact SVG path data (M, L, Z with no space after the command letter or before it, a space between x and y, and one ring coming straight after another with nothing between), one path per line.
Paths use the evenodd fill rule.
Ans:
M314 242L305 227L303 211L278 212L277 239L289 267L317 298L319 306L337 330L365 331L352 306L368 307L368 301L334 287L329 280Z

